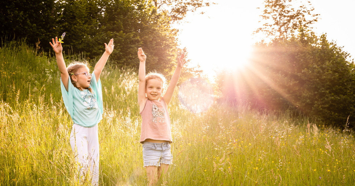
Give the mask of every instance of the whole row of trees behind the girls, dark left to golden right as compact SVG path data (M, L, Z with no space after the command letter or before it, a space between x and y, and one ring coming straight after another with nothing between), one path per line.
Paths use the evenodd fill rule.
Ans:
M65 52L83 53L88 60L99 57L104 43L114 38L111 61L118 66L138 68L136 53L142 47L149 57L147 70L170 75L183 51L171 23L209 5L209 0L1 1L0 33L3 40L26 38L30 46L49 50L50 39L65 32Z

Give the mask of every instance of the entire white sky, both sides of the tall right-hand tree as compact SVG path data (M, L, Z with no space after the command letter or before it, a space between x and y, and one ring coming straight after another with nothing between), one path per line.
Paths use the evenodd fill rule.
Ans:
M353 54L355 58L355 1L353 0L310 0L320 14L320 20L313 25L320 35L327 33L329 40ZM263 0L215 0L217 5L204 7L203 15L189 13L186 22L174 25L180 30L181 47L186 47L191 66L200 64L201 69L213 78L219 67L237 66L248 57L249 46L255 43L252 32L260 25ZM261 9L257 9L260 7Z

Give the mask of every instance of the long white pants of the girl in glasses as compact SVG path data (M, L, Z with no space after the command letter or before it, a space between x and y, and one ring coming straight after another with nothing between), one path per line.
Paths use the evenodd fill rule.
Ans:
M89 173L92 185L99 181L99 137L98 126L91 128L73 124L70 134L70 146L78 164L81 177Z

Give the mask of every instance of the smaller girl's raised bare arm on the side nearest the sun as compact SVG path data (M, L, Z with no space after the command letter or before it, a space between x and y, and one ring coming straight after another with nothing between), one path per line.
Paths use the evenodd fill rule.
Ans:
M182 53L180 58L178 57L178 65L176 66L173 77L171 77L168 89L166 89L166 92L163 96L166 105L169 105L170 100L173 97L175 86L178 84L178 81L180 78L181 69L184 67L184 64L186 63L186 61L184 61L184 56L185 56L185 54Z

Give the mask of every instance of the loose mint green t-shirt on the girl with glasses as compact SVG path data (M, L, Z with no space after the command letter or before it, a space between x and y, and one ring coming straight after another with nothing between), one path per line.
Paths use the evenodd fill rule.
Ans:
M89 85L93 93L87 89L80 91L75 88L70 81L70 77L68 91L65 90L62 79L60 79L60 88L65 108L74 123L84 127L93 127L102 120L103 102L101 81L99 79L96 83L94 72L92 72Z

